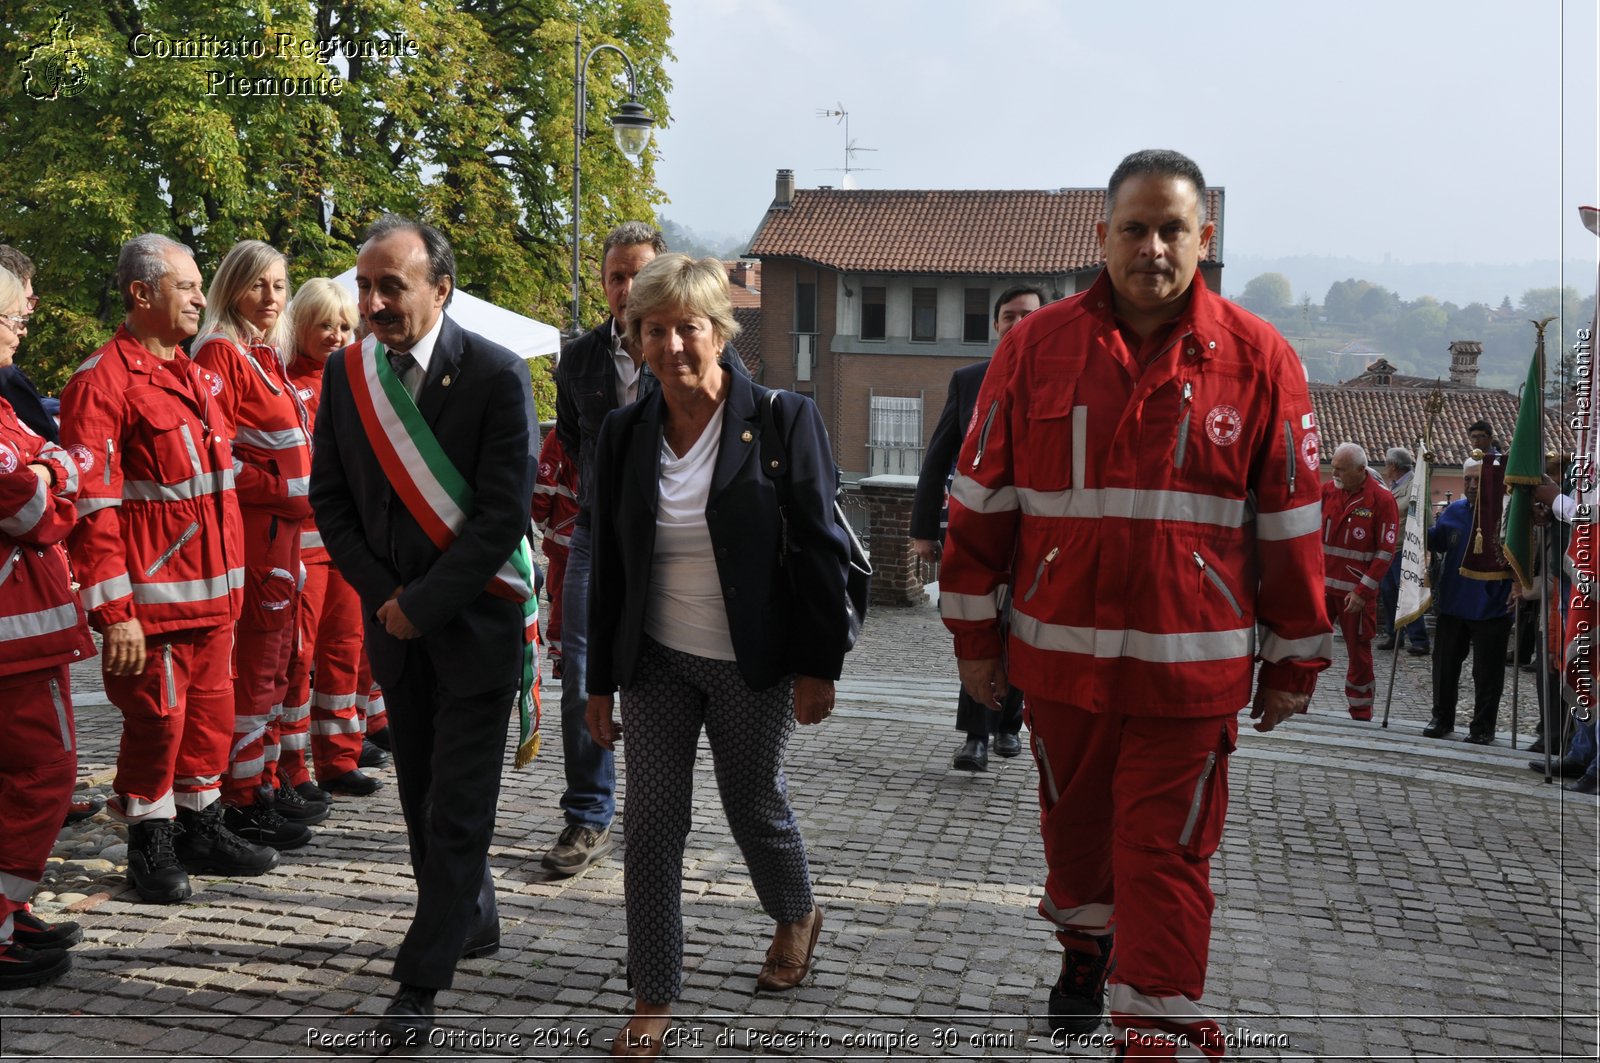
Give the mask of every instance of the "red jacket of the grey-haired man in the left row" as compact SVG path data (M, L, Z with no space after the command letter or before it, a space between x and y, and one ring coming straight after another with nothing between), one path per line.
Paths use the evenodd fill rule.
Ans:
M245 572L234 458L213 405L221 391L222 378L182 351L158 359L118 327L61 392L61 442L80 475L67 549L98 629L235 620Z

